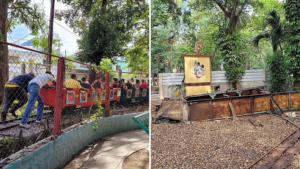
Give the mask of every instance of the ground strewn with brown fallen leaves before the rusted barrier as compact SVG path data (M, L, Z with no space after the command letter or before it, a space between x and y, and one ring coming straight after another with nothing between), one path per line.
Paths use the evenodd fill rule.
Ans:
M168 107L171 116L182 119L178 102L164 102L157 115ZM293 130L295 126L269 114L236 121L152 124L151 168L246 168Z

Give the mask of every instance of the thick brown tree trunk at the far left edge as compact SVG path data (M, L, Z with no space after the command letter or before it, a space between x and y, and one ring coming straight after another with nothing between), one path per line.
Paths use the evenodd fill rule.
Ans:
M0 34L3 35L4 41L7 41L7 10L8 5L0 0ZM8 46L0 45L0 105L4 102L4 85L8 81Z

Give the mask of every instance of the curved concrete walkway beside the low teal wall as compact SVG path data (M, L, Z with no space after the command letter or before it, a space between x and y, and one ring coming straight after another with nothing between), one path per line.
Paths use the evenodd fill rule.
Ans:
M142 129L107 135L88 145L63 168L122 169L126 157L145 148L149 150L149 135Z

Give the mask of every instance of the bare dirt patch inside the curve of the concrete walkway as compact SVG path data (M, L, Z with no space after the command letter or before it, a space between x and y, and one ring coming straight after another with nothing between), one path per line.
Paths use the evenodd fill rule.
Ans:
M149 169L149 151L142 149L129 155L123 162L123 169Z

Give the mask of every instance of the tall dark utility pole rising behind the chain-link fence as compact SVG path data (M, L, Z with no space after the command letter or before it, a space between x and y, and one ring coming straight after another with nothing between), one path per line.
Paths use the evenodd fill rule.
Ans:
M49 20L49 35L48 35L48 48L47 53L52 54L52 38L53 38L53 20L54 20L54 2L51 0L51 11L50 11L50 20ZM51 69L51 56L47 56L47 70Z

